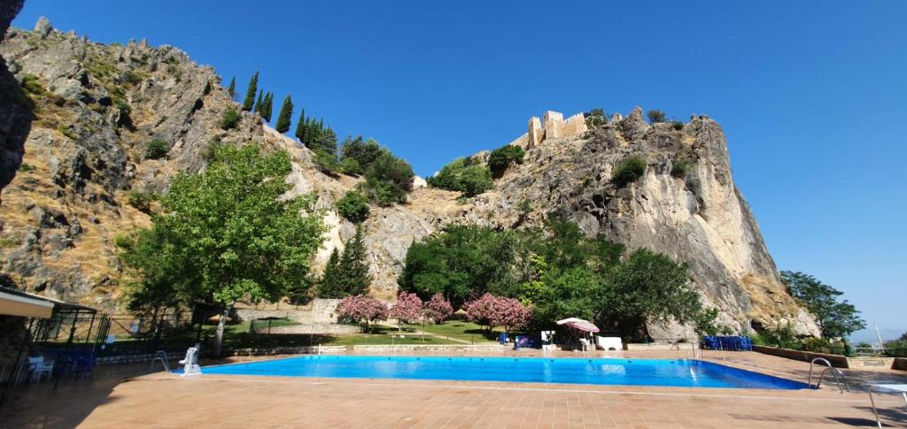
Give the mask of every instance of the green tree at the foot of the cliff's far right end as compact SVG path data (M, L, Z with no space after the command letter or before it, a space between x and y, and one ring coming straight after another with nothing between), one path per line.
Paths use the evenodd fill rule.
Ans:
M866 328L866 322L859 317L860 311L847 300L838 300L844 292L804 272L781 272L781 281L791 296L814 314L823 337L847 337Z

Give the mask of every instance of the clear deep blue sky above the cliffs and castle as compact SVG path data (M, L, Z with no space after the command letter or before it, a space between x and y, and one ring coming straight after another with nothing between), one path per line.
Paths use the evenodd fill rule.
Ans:
M258 70L423 176L544 110L706 113L778 267L907 330L907 2L584 3L26 0L15 26Z

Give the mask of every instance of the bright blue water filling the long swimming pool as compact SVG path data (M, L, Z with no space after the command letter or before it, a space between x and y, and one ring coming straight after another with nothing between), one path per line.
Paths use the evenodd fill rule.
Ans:
M177 371L180 372L180 371ZM610 386L802 389L805 383L702 360L303 356L203 367L203 374L405 378Z

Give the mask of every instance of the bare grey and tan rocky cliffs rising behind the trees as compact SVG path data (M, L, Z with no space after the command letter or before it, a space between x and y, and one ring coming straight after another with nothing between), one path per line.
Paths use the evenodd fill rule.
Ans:
M327 209L331 230L319 262L353 234L354 226L332 208L360 179L319 173L306 148L251 114L243 114L237 129L219 129L221 112L236 104L215 71L185 52L145 42L91 43L41 23L32 32L10 30L0 55L35 106L21 167L0 205L7 281L67 300L118 306L121 267L113 238L149 222L129 204L130 195L165 192L178 172L204 167L207 148L218 140L258 141L292 154L293 192L314 192ZM578 136L546 138L493 191L465 204L457 193L419 188L406 205L373 207L365 223L373 293L392 298L408 246L446 224L522 227L555 212L587 234L689 262L727 326L788 316L800 321L801 330L814 330L781 286L734 185L720 126L704 116L680 129L650 126L640 112ZM171 146L166 157L141 157L152 138ZM637 183L619 188L610 182L611 170L629 154L646 157L649 168ZM681 161L688 163L685 174L672 175ZM518 208L523 201L532 205L528 214Z

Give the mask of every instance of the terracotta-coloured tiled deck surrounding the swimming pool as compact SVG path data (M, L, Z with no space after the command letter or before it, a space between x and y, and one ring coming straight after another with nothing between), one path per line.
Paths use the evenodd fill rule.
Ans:
M517 356L530 356L522 350ZM512 352L504 352L511 355ZM629 358L686 358L687 351L610 352ZM500 356L500 355L499 355ZM559 356L580 354L561 353ZM600 356L600 353L596 356ZM702 358L805 380L809 364L759 353L703 352ZM902 371L849 371L867 380L907 382ZM99 376L101 376L99 374ZM0 415L9 427L874 427L869 398L821 390L583 386L153 374L97 377L51 392L30 387ZM877 405L884 421L907 427L897 396Z

